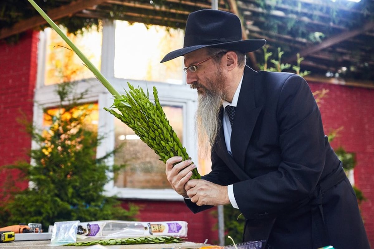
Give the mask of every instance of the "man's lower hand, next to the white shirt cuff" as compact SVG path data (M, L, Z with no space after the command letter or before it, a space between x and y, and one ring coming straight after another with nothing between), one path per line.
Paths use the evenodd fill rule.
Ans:
M192 179L185 185L191 202L202 205L226 205L230 203L227 186L221 186L202 179Z

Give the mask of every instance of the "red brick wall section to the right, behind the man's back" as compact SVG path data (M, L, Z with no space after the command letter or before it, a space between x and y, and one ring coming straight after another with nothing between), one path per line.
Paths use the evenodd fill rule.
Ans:
M374 245L374 89L309 82L312 91L327 89L320 110L325 133L343 127L333 148L356 154L355 185L367 198L361 204L370 244ZM352 234L353 235L353 234Z

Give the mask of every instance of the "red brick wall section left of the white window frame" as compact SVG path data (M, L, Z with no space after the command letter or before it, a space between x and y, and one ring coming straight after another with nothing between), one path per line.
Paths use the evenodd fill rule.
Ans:
M38 33L27 32L16 45L0 41L0 167L27 159L31 138L17 120L24 113L33 117L33 99L37 72ZM1 172L4 179L9 172ZM15 172L13 172L13 175ZM24 188L27 182L20 182Z

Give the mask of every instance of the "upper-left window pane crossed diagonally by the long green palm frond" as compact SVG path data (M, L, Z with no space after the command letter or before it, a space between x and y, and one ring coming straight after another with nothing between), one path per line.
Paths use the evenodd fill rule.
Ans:
M66 29L62 28L66 32ZM46 60L45 85L74 80L94 78L93 73L83 64L82 60L70 49L70 46L51 28L46 29ZM82 53L100 68L101 63L101 29L93 27L85 30L83 34L68 34L69 39L82 51Z

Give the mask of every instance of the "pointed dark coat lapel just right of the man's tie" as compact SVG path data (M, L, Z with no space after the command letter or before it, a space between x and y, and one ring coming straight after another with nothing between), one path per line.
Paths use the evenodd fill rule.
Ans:
M245 154L262 106L255 105L255 71L245 67L231 133L234 160L244 169Z

